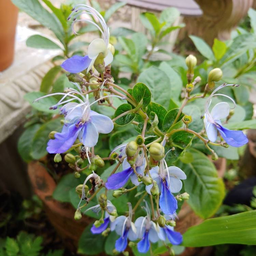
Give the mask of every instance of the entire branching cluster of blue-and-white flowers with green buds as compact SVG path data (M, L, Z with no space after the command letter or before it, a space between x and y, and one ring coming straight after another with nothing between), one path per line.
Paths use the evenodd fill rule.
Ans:
M84 14L86 14L87 17L88 15L93 17L93 20L99 22L99 25L90 18L82 18L83 16L81 15ZM57 154L59 157L59 154L66 154L65 160L75 171L77 177L80 176L80 172L83 172L87 168L91 171L84 183L76 188L76 192L80 196L80 203L77 207L75 218L79 219L82 217L81 211L83 207L87 206L92 198L99 195L97 194L98 191L104 188L105 193L100 194L98 197L99 204L86 210L92 210L97 214L101 212L100 219L97 220L91 228L93 234L102 233L107 235L108 232L115 231L120 236L115 242L115 249L118 252L123 252L126 249L128 239L130 241L137 241L138 251L141 253L148 252L150 243L156 243L159 240L169 240L171 244L179 245L182 243L182 235L174 231L173 226L175 226L174 219L178 211L177 201L189 198L187 193L177 194L182 189L182 180L187 179L187 176L179 167L168 166L166 156L169 151L165 154L165 144L169 143L168 146L172 146L169 139L171 138L171 134L177 131L193 133L198 138L202 139L207 146L208 143L219 146L228 144L234 147L246 144L248 140L242 131L228 130L221 123L221 119L227 118L229 115L230 107L227 102L220 102L212 108L211 112L209 110L214 96L227 97L234 103L233 99L230 97L216 94L219 89L230 85L224 84L219 86L213 90L206 100L203 122L209 140L202 137L205 135L204 131L201 132L201 136L188 129L191 117L186 116L186 118L182 119L186 125L185 128L172 129L169 132L165 132L154 127L154 129L151 129L151 132L154 133L154 136L151 137L153 137L154 140L148 140L146 142L147 138L145 137L145 132L149 124L146 109L142 108L139 102L136 103L136 100L133 99L128 91L112 83L113 78L109 71L108 76L106 75L105 67L109 66L112 62L114 50L113 46L109 44L109 28L104 18L95 9L84 4L79 4L72 9L69 19L71 18L73 20L73 30L77 22L83 21L91 23L99 29L103 39L95 39L90 43L88 55L74 55L62 63L61 67L63 69L71 73L76 73L80 80L79 83L73 83L73 87L67 88L64 93L53 93L37 100L48 96L62 96L55 105L51 106L51 109L59 108L60 114L64 117L63 127L61 132L53 131L50 134L47 151L52 154ZM185 100L189 99L190 93L194 88L191 81L194 76L193 69L196 65L196 58L190 56L186 63L189 67L187 74L189 86L186 86L187 98ZM108 69L109 68L110 66ZM218 76L211 78L206 88L212 89L211 87L214 87L214 82L220 79L221 75L218 70ZM113 89L113 87L119 89L119 91ZM90 102L90 93L97 93L98 90L104 91L103 96L101 98L96 97L97 99L95 101ZM120 93L120 91L125 94ZM207 92L208 91L205 91L205 94L202 95L201 98L203 98ZM127 102L132 105L132 109L117 117L115 116L113 120L108 116L91 110L93 104L97 102L102 104L105 100L108 101L108 106L113 107L111 102L109 102L109 98L111 97L127 100ZM113 108L115 109L115 107ZM99 155L95 155L94 147L98 143L99 133L110 133L114 129L113 121L125 116L128 114L127 112L136 113L137 116L140 115L140 119L144 119L141 134L139 134L135 140L130 140L127 143L115 147L109 157L105 159L102 159ZM174 123L179 119L181 113L182 108L177 114ZM138 118L138 120L140 119ZM133 124L138 126L139 123L133 122ZM220 136L221 141L215 143L218 136ZM222 140L224 140L224 142ZM72 149L79 155L75 157L68 153ZM175 150L175 147L171 150ZM80 160L82 160L83 163L84 160L88 161L88 165L84 168L80 168ZM116 164L106 181L103 181L96 173L97 167L104 167L104 160L112 160L112 163L115 162ZM120 166L122 166L121 171L119 170ZM91 184L90 189L86 185L88 182ZM127 185L130 188L126 188ZM137 188L144 190L143 196L138 200L136 205L133 205L133 208L131 203L129 203L129 212L127 215L118 216L116 207L108 200L109 190L114 190L113 196L118 198ZM146 215L139 216L134 221L136 209L143 198L149 199L151 210L145 200L144 209ZM81 205L82 202L85 203Z

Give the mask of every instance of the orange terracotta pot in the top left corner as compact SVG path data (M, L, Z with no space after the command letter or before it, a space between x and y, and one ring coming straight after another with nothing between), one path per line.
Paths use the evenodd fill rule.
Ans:
M18 8L11 0L0 1L0 71L13 61L17 17Z

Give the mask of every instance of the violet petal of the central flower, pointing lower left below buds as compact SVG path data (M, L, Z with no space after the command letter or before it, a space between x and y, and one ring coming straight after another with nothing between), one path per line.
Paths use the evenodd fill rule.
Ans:
M117 189L123 187L129 180L129 177L133 173L133 169L130 167L122 172L114 173L108 177L105 186L107 189Z

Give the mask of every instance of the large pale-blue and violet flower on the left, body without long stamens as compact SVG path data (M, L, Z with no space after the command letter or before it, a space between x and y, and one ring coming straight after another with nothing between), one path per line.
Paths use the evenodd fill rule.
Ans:
M49 140L47 151L49 153L64 153L79 138L86 147L97 144L99 133L110 133L114 124L108 116L90 110L89 103L68 103L60 109L64 114L66 123L62 131L55 134L54 140Z

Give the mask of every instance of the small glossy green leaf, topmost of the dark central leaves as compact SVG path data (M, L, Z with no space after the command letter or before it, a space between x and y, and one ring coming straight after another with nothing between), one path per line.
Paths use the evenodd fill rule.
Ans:
M142 107L146 108L151 101L150 89L143 83L137 83L132 88L132 97L137 103L140 103L143 99Z

